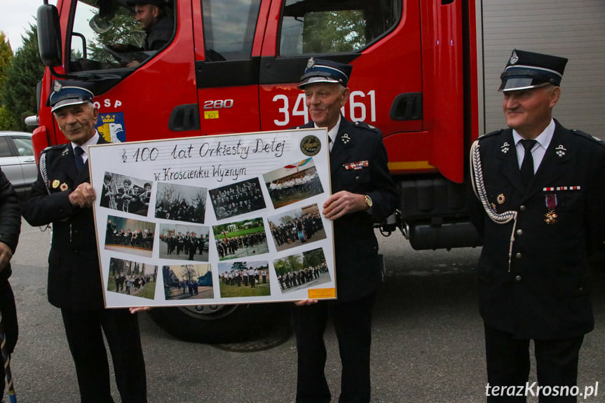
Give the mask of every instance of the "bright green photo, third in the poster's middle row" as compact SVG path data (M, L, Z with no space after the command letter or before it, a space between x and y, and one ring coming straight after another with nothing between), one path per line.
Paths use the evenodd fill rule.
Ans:
M219 224L212 227L219 260L240 259L269 251L263 219Z

